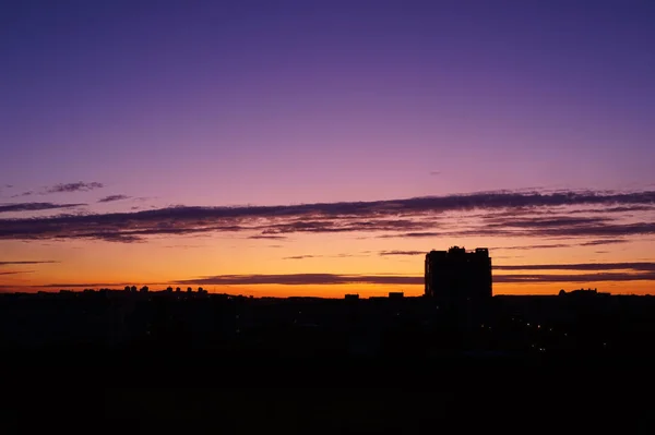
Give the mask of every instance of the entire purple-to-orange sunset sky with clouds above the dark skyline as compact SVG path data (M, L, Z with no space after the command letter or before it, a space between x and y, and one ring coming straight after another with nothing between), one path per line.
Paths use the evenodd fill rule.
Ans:
M0 291L655 293L655 3L15 0Z

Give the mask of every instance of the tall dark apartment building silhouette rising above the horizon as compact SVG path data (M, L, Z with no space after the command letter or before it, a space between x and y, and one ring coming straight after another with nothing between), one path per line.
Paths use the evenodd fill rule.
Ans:
M452 246L448 251L430 251L426 255L427 297L491 298L491 257L486 247L466 252L464 247Z

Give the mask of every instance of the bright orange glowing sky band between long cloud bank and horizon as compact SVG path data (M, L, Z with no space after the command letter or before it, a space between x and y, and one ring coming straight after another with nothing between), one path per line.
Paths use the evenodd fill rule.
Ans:
M362 235L362 234L357 234ZM366 235L366 234L364 234ZM526 240L504 241L510 244L528 243ZM467 249L496 246L490 254L495 266L576 263L648 262L652 244L635 240L621 249L595 254L593 246L576 249L546 249L512 251L498 246L495 240L441 240L437 249L450 245ZM252 240L245 237L219 235L202 238L154 238L145 243L108 243L99 241L17 242L5 241L0 261L43 259L35 265L3 266L0 271L0 291L58 291L74 288L117 288L126 285L165 289L168 285L186 289L202 286L210 292L253 297L321 297L343 298L358 293L362 298L386 295L403 291L406 295L420 295L424 274L424 255L433 247L429 240L359 238L348 234L335 238L330 234L298 234L290 240ZM628 246L630 249L628 249ZM382 255L397 252L400 254ZM405 254L404 254L405 253ZM409 254L406 254L409 253ZM15 274L13 274L15 271ZM611 271L619 271L618 269ZM595 271L594 271L595 273ZM417 285L406 283L329 283L329 285L203 285L212 277L223 276L285 276L295 274L326 274L334 276L395 275L416 277ZM495 270L501 275L584 275L581 270ZM590 273L592 276L593 273ZM179 283L178 283L179 282ZM57 285L57 286L53 286ZM493 294L557 294L579 288L597 288L616 294L655 293L655 281L593 281L587 282L495 282Z

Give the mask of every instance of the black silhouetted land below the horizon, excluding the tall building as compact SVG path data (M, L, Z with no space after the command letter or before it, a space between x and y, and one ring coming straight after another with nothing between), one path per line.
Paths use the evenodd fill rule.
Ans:
M653 434L652 298L0 303L0 435Z

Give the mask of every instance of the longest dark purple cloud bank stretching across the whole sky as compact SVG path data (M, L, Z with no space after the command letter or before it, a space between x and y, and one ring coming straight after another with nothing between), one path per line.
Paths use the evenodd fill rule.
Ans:
M0 239L97 239L135 242L151 235L188 235L211 232L257 232L252 239L281 240L289 233L386 232L383 237L539 237L608 238L655 233L655 222L622 223L606 217L552 216L544 218L483 219L481 225L460 220L453 227L439 216L445 212L513 207L575 205L645 205L655 192L638 193L477 193L397 201L321 203L288 206L194 207L175 206L135 213L0 219ZM36 204L36 205L35 205ZM81 204L10 204L0 212L73 207ZM398 218L404 216L405 218Z

